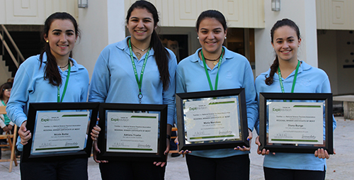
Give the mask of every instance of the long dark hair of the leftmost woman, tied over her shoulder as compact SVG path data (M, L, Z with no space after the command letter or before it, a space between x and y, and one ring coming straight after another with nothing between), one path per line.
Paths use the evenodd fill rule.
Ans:
M75 18L70 15L69 13L65 12L57 12L57 13L52 13L47 20L45 20L43 32L42 32L42 41L44 43L44 48L42 53L40 53L40 67L42 67L42 62L43 62L43 54L47 54L47 64L45 64L45 74L44 74L44 79L48 79L49 83L52 84L53 86L60 86L62 84L62 76L59 73L59 69L57 67L57 61L52 55L52 52L50 52L50 45L49 43L45 43L43 37L48 36L50 26L52 25L52 22L60 19L60 20L69 20L72 21L72 24L74 25L75 28L75 35L80 36L80 31L79 28L77 27L77 23ZM72 52L70 52L69 57L72 57Z

